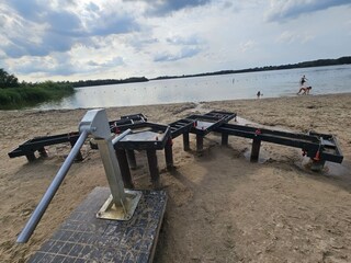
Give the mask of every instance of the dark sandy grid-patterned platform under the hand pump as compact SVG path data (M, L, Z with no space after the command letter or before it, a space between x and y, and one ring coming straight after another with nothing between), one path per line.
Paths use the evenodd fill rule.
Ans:
M29 262L151 262L166 209L166 192L143 191L128 221L95 218L109 195L107 187L94 188Z

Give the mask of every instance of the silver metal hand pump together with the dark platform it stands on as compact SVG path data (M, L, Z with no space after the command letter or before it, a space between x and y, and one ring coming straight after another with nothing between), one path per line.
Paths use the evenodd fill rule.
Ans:
M54 178L18 242L26 242L65 179L89 135L101 155L110 188L97 187L70 215L30 262L151 262L167 196L163 191L125 190L104 110L89 111L79 125L79 137Z

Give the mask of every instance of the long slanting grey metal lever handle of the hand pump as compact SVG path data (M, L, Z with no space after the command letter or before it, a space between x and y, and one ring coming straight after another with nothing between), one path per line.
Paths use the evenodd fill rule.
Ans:
M18 237L18 243L25 243L31 238L33 231L35 230L37 224L39 222L41 218L43 217L46 208L48 207L49 203L52 202L54 195L56 194L59 185L64 181L69 168L75 161L76 156L80 151L80 148L84 144L84 140L88 137L88 130L82 130L80 134L77 142L75 144L73 148L69 152L68 157L66 158L64 164L57 172L56 176L54 178L53 182L48 186L47 191L45 192L43 198L41 199L39 204L36 206L35 210L33 211L30 220L26 222L25 227L23 228L22 232Z

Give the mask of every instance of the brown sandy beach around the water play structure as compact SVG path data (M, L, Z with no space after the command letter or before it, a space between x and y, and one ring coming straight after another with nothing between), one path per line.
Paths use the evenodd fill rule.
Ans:
M239 124L333 134L344 161L315 173L302 165L295 148L263 142L260 163L250 163L248 139L229 137L224 147L212 134L197 155L193 135L189 152L177 138L176 171L165 169L158 152L169 202L155 262L351 262L351 94L116 107L107 114L116 119L144 113L150 122L168 124L211 110L236 112ZM8 152L34 136L78 130L84 113L0 112L1 262L27 260L95 186L107 185L99 152L84 145L84 160L73 163L29 243L15 243L70 146L48 147L48 158L32 163ZM149 188L144 152L137 161L135 184Z

